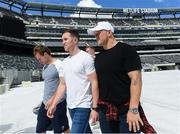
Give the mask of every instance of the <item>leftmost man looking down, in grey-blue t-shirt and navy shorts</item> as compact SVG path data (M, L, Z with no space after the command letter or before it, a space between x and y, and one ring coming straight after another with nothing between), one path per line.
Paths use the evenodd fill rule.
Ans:
M69 125L66 116L66 99L65 94L58 100L58 110L54 114L54 118L47 117L47 109L52 103L52 96L55 94L59 83L59 74L62 72L62 62L51 56L51 51L48 47L37 45L34 48L35 58L44 65L42 77L44 79L44 95L43 101L38 111L37 117L37 133L45 133L51 125L54 133L68 133Z

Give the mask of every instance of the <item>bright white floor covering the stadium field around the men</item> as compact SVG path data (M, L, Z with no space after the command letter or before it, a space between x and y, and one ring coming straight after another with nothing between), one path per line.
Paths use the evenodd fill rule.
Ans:
M158 133L180 131L180 71L143 73L141 103ZM34 133L33 107L41 102L43 82L17 87L0 95L0 133Z

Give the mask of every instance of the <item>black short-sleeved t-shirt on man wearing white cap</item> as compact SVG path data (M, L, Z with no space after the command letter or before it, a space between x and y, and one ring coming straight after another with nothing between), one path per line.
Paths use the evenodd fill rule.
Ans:
M141 61L135 49L125 43L99 53L95 59L99 81L99 98L115 105L130 98L128 72L141 70Z

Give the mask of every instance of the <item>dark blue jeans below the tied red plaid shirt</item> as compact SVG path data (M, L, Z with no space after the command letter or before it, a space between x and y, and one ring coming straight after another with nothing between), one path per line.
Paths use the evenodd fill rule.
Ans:
M126 122L127 111L119 113L117 121L108 121L106 119L106 108L99 110L99 121L102 133L133 133L129 131L128 123ZM137 131L136 133L140 133Z

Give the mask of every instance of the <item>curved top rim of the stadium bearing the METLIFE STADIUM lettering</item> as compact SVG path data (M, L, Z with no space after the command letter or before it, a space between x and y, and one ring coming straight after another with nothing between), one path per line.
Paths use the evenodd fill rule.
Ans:
M31 3L23 0L0 0L1 3L7 4L10 9L12 7L19 8L21 13L27 13L28 11L40 11L41 15L45 12L57 12L69 13L69 14L95 14L103 15L109 14L113 16L148 16L148 15L168 15L168 14L180 14L180 8L169 9L156 9L156 8L92 8L92 7L77 7L77 6L64 6L46 3Z

